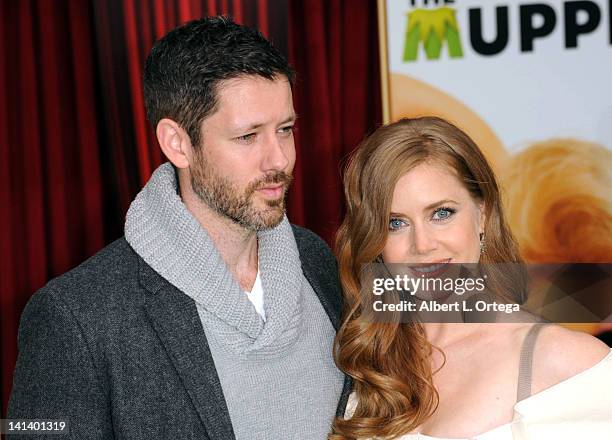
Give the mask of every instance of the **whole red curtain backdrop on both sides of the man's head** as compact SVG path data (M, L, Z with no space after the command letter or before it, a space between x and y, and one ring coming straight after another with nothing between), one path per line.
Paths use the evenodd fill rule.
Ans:
M163 161L145 120L146 54L217 14L258 27L296 67L289 216L333 239L340 162L381 119L374 0L0 0L0 414L25 303L122 235Z

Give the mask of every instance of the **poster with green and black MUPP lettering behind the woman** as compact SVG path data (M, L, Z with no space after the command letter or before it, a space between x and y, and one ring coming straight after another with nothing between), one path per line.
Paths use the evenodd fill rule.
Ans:
M611 262L612 0L378 7L385 122L466 131L527 262Z

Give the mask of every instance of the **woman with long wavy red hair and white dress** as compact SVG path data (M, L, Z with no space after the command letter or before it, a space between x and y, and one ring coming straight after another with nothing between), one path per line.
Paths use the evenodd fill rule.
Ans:
M366 317L359 275L369 263L521 263L495 176L465 133L433 117L381 127L353 154L344 184L335 356L354 393L330 438L612 435L612 355L590 335Z

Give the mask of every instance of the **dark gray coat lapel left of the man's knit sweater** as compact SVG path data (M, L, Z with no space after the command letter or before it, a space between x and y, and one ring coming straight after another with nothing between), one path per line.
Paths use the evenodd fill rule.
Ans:
M210 440L233 440L229 411L194 301L140 260L148 316Z

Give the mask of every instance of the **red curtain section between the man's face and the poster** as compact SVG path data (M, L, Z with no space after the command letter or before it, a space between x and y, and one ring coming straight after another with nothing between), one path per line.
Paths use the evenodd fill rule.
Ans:
M332 244L342 160L382 120L376 2L293 1L289 10L299 119L288 215Z

